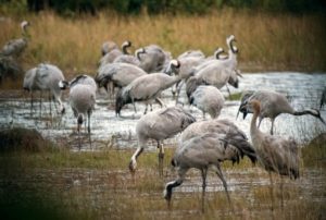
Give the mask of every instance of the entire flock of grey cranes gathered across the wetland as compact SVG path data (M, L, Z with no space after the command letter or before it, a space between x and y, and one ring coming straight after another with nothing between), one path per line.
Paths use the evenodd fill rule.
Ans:
M24 33L26 33L27 25L27 22L22 23ZM172 166L177 170L177 178L165 185L164 198L170 205L173 188L184 182L189 169L196 168L200 170L202 176L202 210L204 210L209 168L213 169L222 181L227 199L231 204L227 182L221 168L221 163L225 160L238 163L247 156L253 163L259 161L269 173L275 172L292 179L300 176L300 154L296 142L273 135L274 121L277 115L280 113L311 114L325 123L319 110L297 111L285 96L271 90L242 94L239 112L243 113L243 118L247 113L253 113L250 124L251 140L235 123L218 119L225 102L220 89L228 85L238 87L239 77L242 77L238 70L238 48L235 42L234 35L226 38L227 54L223 54L222 48L217 48L214 56L208 58L200 50L189 50L173 59L170 52L158 45L139 48L133 56L128 52L130 41L125 41L122 49L115 42L108 41L101 48L102 58L95 77L80 74L66 81L58 66L41 63L26 71L23 88L32 95L32 108L34 91L49 91L50 99L54 97L54 100L59 102L60 113L65 112L62 90L70 89L68 102L77 120L79 149L82 147L80 127L84 122L85 125L88 122L87 132L91 145L90 117L99 88L104 87L115 98L117 117L122 117L125 105L131 103L137 112L136 102L145 102L146 110L135 127L138 148L130 158L130 172L135 173L137 158L147 147L148 140L154 139L158 143L159 173L162 176L164 158L162 140L181 133L172 158ZM22 39L8 42L0 53L16 57L26 46L27 38L24 36ZM176 93L176 106L166 107L161 100L161 94L173 86L175 86L173 91ZM211 119L196 121L190 112L178 105L183 86L186 87L189 105L199 108L204 115L208 112ZM115 88L117 88L116 91ZM325 102L325 97L326 89L321 100L321 108ZM152 108L154 101L161 105L161 109L148 112L148 106ZM259 130L264 118L272 120L271 134Z

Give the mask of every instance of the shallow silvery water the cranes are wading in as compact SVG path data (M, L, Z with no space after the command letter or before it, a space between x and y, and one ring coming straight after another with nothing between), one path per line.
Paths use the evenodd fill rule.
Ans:
M283 73L263 73L263 74L243 74L240 78L239 88L230 88L230 91L241 93L246 89L273 89L285 94L292 107L296 109L315 108L318 109L322 90L326 86L325 74L304 74L294 72ZM222 89L227 97L226 89ZM35 101L33 113L30 113L29 96L17 90L2 90L0 96L0 126L24 126L37 129L45 135L55 142L63 142L77 149L76 119L65 101L66 113L60 117L55 112L53 103L45 97L42 98L41 115L39 111L39 101ZM38 94L35 95L39 97ZM39 99L39 98L38 98ZM175 105L171 89L162 94L162 99L166 106ZM67 93L64 94L64 100L67 100ZM185 91L181 90L180 101L187 103ZM249 123L251 117L242 120L240 115L236 119L239 100L226 100L225 107L220 115L221 119L229 119L234 121L241 130L249 135ZM104 90L100 90L97 97L96 109L91 115L91 139L95 149L105 147L136 147L135 125L145 110L143 103L137 103L138 112L135 114L133 106L128 105L122 110L123 118L116 118L114 112L114 100L111 99ZM153 109L159 109L158 105L153 105ZM185 105L197 120L203 120L202 113L196 107ZM322 110L322 117L326 119L326 108ZM210 117L206 115L206 119ZM261 130L268 132L271 122L265 119L261 125ZM317 119L311 115L293 117L281 114L275 121L276 134L285 136L293 136L297 142L305 143L314 135L325 132L326 126ZM90 149L86 131L83 131L83 150ZM177 136L164 142L164 144L174 144ZM152 146L152 149L154 147Z

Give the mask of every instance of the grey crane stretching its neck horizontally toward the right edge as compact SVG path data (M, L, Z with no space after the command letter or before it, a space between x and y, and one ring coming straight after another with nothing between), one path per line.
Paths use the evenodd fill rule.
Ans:
M248 110L247 108L243 108L243 106L253 99L261 102L259 126L264 118L269 118L272 120L271 134L273 134L275 119L281 113L289 113L292 115L311 114L319 119L325 124L325 121L317 109L304 109L301 111L294 110L284 95L273 90L244 91L238 110L238 114L239 112L243 113L243 119L246 119L248 113L252 113L250 109Z

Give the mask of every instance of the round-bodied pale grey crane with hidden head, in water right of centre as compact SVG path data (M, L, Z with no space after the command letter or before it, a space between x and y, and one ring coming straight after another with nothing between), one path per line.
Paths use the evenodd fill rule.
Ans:
M212 119L215 119L221 114L224 101L224 96L218 88L214 86L199 86L190 95L189 103L199 108L203 112L204 119L205 112L208 112Z

